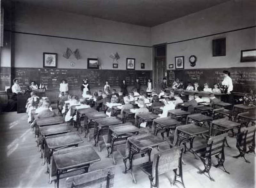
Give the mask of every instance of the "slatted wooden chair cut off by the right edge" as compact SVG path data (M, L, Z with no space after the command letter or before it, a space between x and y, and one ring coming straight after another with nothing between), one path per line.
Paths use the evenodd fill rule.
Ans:
M250 163L250 161L245 158L245 154L251 152L255 154L255 130L255 126L246 127L243 132L236 134L236 148L240 154L233 156L234 158L244 157L245 162ZM247 147L249 148L248 151Z

